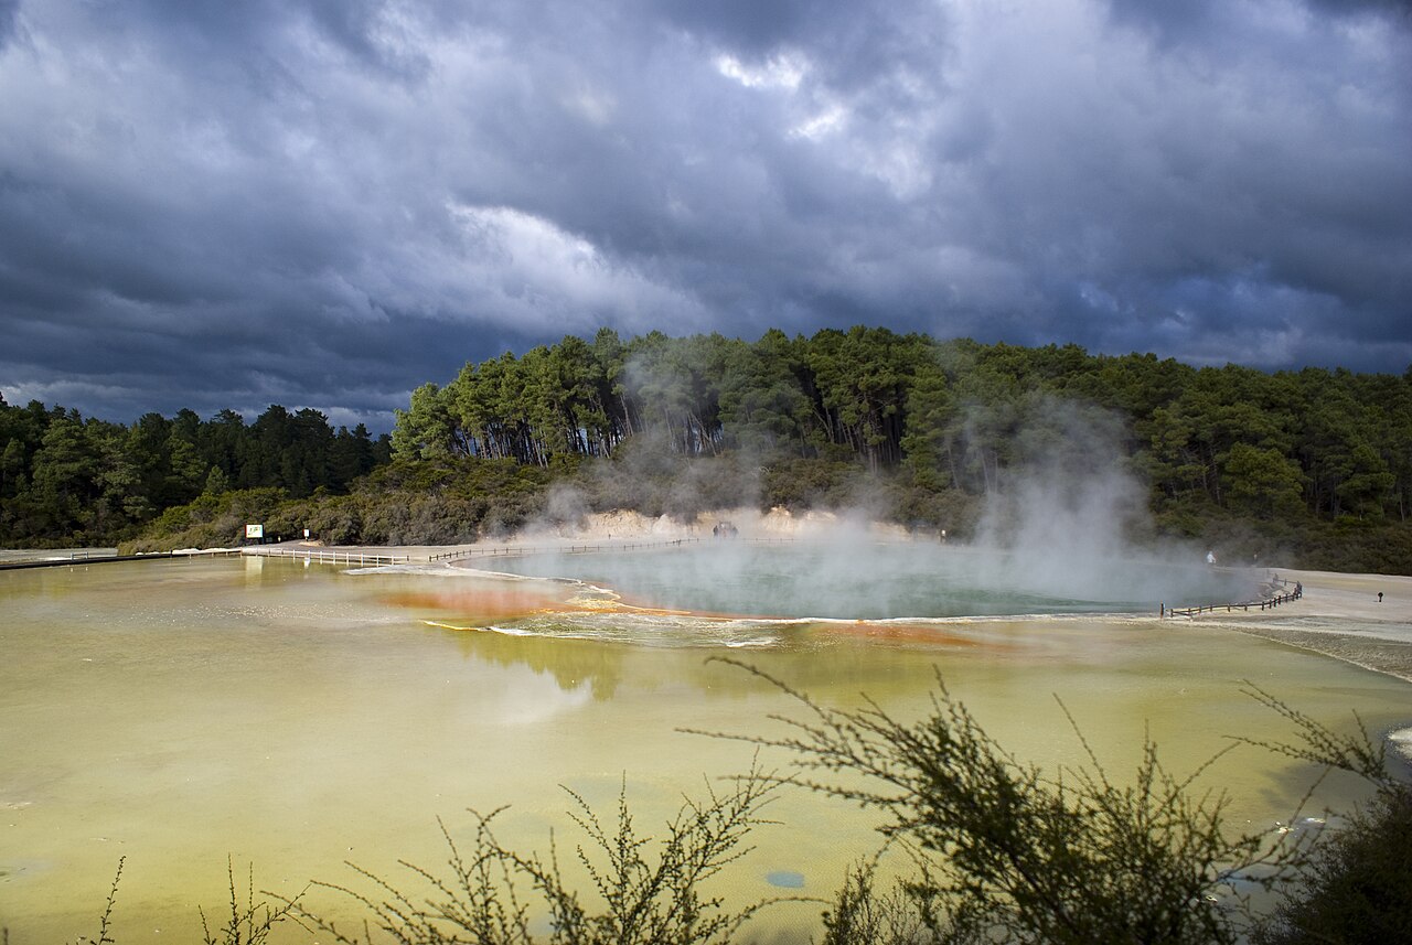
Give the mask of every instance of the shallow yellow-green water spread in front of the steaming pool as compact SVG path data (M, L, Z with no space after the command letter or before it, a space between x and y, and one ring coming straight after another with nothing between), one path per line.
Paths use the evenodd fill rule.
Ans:
M227 856L241 882L253 863L258 889L285 894L353 882L343 860L401 879L398 859L443 860L438 817L469 836L467 807L510 804L507 845L546 849L554 828L568 848L578 835L561 784L610 815L626 780L638 827L658 832L683 791L751 763L746 745L679 729L779 732L767 715L792 711L707 662L717 654L823 704L866 693L899 717L925 711L939 669L987 731L1045 766L1082 760L1056 695L1115 772L1137 763L1145 731L1176 772L1223 735L1286 736L1241 680L1339 728L1353 709L1380 732L1412 722L1412 687L1398 680L1144 616L515 616L541 598L565 592L275 560L0 573L0 925L14 945L96 937L126 858L114 938L198 939L198 906L212 915L226 901ZM1236 825L1274 829L1315 774L1241 748L1204 783L1231 793ZM1316 805L1360 797L1330 779ZM768 812L782 824L755 835L724 883L740 900L826 897L875 846L867 818L837 801L785 793ZM801 889L778 886L794 874ZM357 914L321 890L308 904ZM781 907L755 929L802 941L818 913Z

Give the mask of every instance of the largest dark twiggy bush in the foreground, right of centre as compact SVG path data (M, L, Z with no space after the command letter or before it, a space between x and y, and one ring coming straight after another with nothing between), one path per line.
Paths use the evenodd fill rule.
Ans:
M1200 770L1166 772L1151 742L1130 781L1091 750L1087 766L1045 773L1005 752L940 680L932 712L902 724L871 702L830 709L764 678L806 717L784 719L791 735L747 740L794 755L794 783L880 811L887 843L911 856L891 893L874 890L870 869L849 877L829 941L1237 942L1245 889L1276 886L1303 862L1305 835L1231 831L1227 798L1193 790Z

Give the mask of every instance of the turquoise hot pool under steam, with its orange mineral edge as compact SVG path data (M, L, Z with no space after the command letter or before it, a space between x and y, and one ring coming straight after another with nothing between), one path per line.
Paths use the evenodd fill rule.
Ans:
M570 604L589 611L572 612L570 606L570 612L534 615L514 622L517 630L534 625L562 636L651 638L668 625L690 625L726 645L762 643L798 622L1156 614L1162 604L1230 602L1254 591L1240 573L1134 556L1087 561L1073 568L1083 577L1079 580L1035 567L1022 553L861 539L788 544L707 540L479 564L521 581L539 578L555 587L573 581L578 591ZM459 568L428 570L452 575ZM487 575L483 570L462 573L467 578Z

